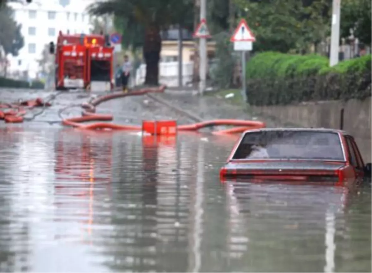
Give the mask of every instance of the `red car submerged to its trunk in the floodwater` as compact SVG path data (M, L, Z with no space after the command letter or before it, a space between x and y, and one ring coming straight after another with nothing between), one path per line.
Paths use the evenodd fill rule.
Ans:
M341 130L263 128L245 131L221 180L359 183L371 177L352 136Z

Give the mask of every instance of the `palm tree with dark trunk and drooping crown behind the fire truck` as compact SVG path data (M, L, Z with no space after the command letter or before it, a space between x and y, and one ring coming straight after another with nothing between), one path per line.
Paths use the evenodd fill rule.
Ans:
M185 25L193 19L192 0L101 0L89 6L88 10L98 16L113 14L125 20L128 28L144 28L145 85L158 85L160 31L171 25Z

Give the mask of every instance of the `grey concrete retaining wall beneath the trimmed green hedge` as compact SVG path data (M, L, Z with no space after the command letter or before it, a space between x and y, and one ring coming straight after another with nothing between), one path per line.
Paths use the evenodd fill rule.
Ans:
M363 101L309 102L289 106L253 107L253 112L282 124L300 127L339 129L344 109L343 129L352 134L366 161L372 162L372 98Z

